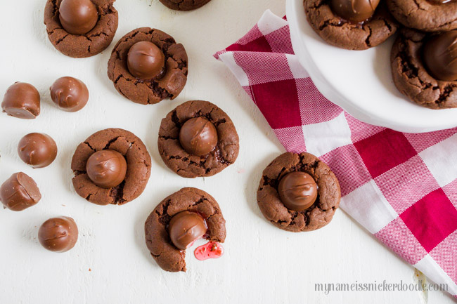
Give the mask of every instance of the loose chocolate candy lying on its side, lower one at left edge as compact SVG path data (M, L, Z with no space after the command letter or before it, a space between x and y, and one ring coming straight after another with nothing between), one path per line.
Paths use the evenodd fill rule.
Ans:
M0 201L12 211L22 211L41 199L37 183L27 174L18 172L0 187Z

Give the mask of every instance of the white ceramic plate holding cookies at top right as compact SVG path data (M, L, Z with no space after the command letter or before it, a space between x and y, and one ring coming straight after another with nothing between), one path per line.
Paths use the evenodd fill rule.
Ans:
M321 93L368 124L401 132L437 131L457 126L457 109L430 110L409 101L392 81L391 37L366 51L326 44L309 26L303 0L287 0L286 13L295 54Z

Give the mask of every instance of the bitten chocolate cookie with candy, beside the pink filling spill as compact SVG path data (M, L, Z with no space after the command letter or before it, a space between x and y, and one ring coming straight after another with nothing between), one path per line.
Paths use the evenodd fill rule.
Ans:
M186 271L186 249L200 237L213 242L214 253L226 237L225 219L217 201L207 192L187 187L163 199L144 225L146 246L166 271ZM198 256L198 253L195 253Z

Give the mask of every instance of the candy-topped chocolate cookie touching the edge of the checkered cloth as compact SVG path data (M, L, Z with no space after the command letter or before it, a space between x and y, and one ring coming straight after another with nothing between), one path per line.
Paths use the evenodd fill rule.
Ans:
M302 179L294 176L297 172ZM316 230L330 223L340 198L335 174L306 152L276 157L262 173L257 190L257 204L264 217L290 232Z

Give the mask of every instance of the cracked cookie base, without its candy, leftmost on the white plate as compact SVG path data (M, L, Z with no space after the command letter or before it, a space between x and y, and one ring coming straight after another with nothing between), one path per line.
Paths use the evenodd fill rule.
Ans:
M397 31L397 21L381 1L373 17L353 23L333 13L330 0L304 0L309 25L328 44L348 50L366 50L378 46Z

